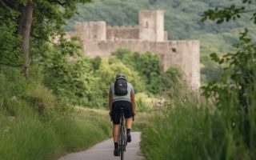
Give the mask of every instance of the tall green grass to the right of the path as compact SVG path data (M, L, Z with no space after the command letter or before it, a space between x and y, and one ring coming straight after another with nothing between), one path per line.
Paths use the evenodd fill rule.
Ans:
M251 94L251 98L255 98ZM250 146L234 107L219 109L190 90L171 90L142 132L146 159L255 159L255 107L249 106ZM226 99L230 105L230 100ZM229 102L228 102L229 101ZM255 104L254 100L254 104ZM232 105L232 104L231 104ZM241 118L239 119L240 121Z

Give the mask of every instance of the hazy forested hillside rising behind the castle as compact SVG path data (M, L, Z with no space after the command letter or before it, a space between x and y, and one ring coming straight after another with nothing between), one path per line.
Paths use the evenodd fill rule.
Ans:
M111 26L128 26L138 24L138 10L164 10L165 30L169 39L199 39L202 52L225 52L230 44L238 41L238 32L244 26L252 30L253 22L247 18L240 21L216 24L200 22L204 11L216 6L239 6L241 0L94 0L91 4L79 5L78 15L71 18L65 30L73 30L74 22L106 21ZM251 8L256 6L250 5ZM256 31L250 34L256 38Z

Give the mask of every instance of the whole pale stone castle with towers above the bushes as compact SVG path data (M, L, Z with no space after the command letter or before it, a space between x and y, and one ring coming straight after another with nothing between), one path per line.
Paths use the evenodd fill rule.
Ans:
M107 26L106 22L76 22L70 36L82 39L83 51L90 57L107 57L118 48L129 48L139 53L159 54L162 69L171 65L181 68L190 86L200 86L200 42L169 41L164 30L162 10L139 11L138 26Z

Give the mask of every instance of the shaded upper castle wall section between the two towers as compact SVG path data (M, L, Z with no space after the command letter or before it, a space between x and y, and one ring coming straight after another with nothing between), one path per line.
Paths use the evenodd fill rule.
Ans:
M138 26L107 26L106 39L138 39Z

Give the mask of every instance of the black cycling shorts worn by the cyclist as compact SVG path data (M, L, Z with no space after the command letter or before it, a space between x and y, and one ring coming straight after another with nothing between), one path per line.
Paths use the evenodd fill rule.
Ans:
M125 118L131 118L133 114L133 108L132 104L129 101L116 101L112 103L112 114L111 118L113 120L114 125L120 124L120 118L121 118L121 113L120 113L120 108L123 108L124 110L124 116Z

